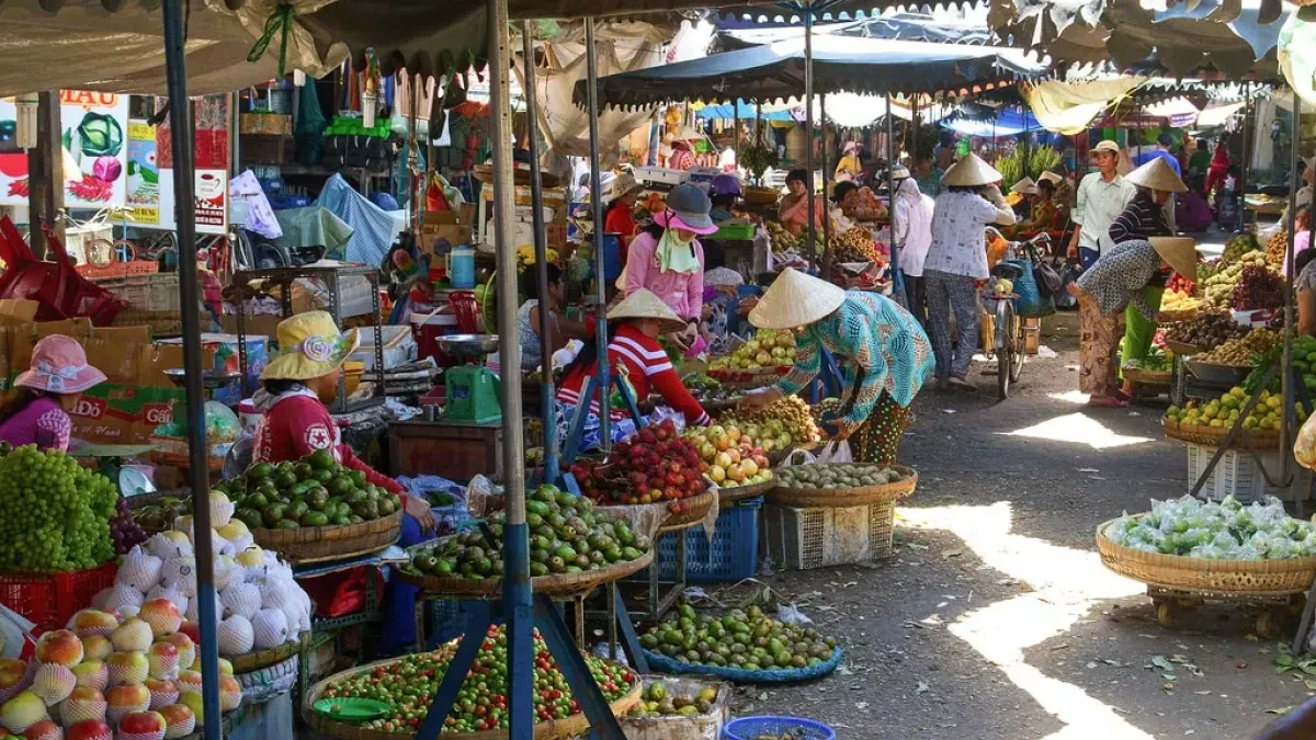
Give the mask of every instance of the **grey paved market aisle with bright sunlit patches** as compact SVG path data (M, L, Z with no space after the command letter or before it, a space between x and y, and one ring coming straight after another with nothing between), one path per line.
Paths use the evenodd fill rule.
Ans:
M983 365L976 396L920 395L901 462L921 481L892 560L761 578L848 660L809 685L741 689L737 714L815 718L844 739L1241 739L1311 694L1275 674L1242 608L1162 628L1141 587L1101 568L1096 525L1182 495L1184 448L1159 435L1159 408L1079 406L1075 316L1042 341L1058 357L1030 361L1004 403Z

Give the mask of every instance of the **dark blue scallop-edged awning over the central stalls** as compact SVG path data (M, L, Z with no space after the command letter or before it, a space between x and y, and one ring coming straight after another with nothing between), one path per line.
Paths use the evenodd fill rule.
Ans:
M971 92L1040 76L1048 65L1017 49L819 37L813 40L813 90L819 93ZM715 103L788 100L804 92L804 41L715 54L609 75L599 80L604 105L642 107L678 100ZM586 100L583 84L576 103Z

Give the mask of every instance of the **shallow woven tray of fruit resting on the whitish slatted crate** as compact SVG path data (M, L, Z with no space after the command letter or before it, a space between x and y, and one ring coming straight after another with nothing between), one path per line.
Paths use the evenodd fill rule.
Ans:
M899 500L913 492L919 473L903 465L855 462L792 465L778 474L767 498L780 506L850 507Z

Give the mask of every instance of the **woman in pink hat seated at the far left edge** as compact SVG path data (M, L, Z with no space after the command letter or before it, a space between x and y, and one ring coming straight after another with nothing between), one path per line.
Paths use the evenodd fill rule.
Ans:
M68 412L83 391L105 382L87 363L78 340L50 334L32 348L32 366L13 384L18 392L0 407L0 441L42 452L68 452L74 423Z

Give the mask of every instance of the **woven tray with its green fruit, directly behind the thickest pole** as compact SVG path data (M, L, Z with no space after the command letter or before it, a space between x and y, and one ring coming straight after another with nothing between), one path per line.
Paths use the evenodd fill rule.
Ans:
M488 516L492 541L471 529L409 548L411 562L399 578L437 594L496 595L503 585L505 520L503 512ZM525 520L532 585L540 594L590 591L645 569L654 557L649 535L554 486L540 486L526 496Z

